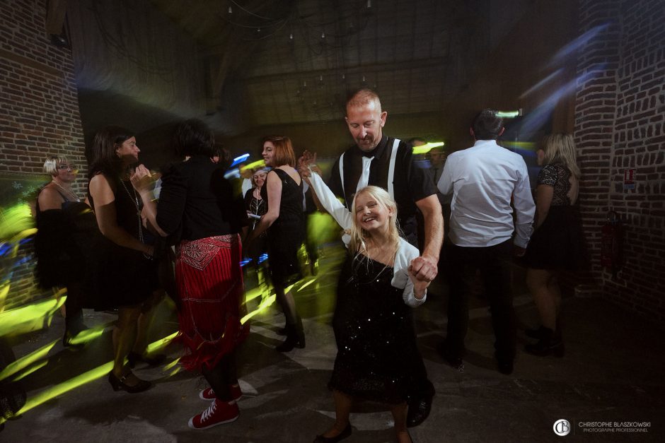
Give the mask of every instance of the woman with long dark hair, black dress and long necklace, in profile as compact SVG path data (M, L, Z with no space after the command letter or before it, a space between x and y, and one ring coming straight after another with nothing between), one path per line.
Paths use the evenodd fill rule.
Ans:
M156 262L152 260L154 247L144 243L146 228L139 194L129 182L129 168L139 160L139 152L132 132L107 126L95 135L88 167L88 200L99 230L110 240L98 253L98 301L105 307L118 308L113 331L115 355L108 381L115 391L129 393L151 386L125 366L125 358L136 343L141 307L159 286Z

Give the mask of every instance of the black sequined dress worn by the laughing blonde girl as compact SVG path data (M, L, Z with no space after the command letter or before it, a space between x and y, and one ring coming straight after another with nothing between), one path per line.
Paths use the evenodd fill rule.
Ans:
M391 285L393 268L348 256L337 285L332 329L337 357L328 387L382 403L402 403L421 364L411 308Z

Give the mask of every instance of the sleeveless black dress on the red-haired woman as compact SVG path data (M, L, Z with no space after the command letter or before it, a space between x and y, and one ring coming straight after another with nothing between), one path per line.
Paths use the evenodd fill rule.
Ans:
M275 168L282 181L279 217L268 229L268 269L274 285L284 287L302 277L298 252L304 239L303 183L297 184L283 170ZM268 182L261 189L261 198L268 201Z

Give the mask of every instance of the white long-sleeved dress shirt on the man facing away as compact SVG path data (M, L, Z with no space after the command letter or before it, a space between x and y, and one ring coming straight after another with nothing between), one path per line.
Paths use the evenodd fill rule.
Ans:
M514 244L526 248L536 206L521 155L502 148L495 140L478 140L471 148L448 156L438 188L441 194L453 194L453 244L489 247L509 240L515 231Z

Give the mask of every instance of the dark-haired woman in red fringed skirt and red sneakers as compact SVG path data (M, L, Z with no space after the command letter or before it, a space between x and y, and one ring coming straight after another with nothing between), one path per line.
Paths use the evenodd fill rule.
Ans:
M157 232L178 235L175 281L181 301L178 339L187 370L200 370L210 388L199 396L212 401L190 419L192 429L229 423L238 418L242 396L236 374L237 346L249 333L241 324L243 272L238 232L246 223L242 200L235 199L224 170L212 160L214 135L199 120L187 120L175 133L175 148L185 160L166 168L159 201L149 187L143 165L132 176Z

